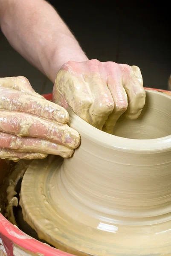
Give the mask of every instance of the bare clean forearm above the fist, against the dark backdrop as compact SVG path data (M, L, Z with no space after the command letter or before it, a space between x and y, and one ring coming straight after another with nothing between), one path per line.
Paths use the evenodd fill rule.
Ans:
M52 82L67 61L87 56L55 9L44 0L0 0L1 29L12 47Z

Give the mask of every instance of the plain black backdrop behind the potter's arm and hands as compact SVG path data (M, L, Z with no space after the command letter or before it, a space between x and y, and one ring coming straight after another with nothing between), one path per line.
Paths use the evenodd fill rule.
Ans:
M171 74L169 1L49 1L89 59L139 66L144 86L167 89ZM52 83L8 44L0 32L0 77L26 76L38 93Z

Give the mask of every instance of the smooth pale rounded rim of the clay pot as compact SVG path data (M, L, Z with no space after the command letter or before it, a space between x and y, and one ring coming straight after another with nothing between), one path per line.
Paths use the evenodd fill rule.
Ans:
M146 93L157 93L160 94L161 97L166 97L171 100L170 96L157 91L146 90ZM111 148L113 150L129 151L132 153L137 153L137 151L139 151L139 153L154 153L171 150L171 135L148 140L122 138L113 134L107 134L104 131L100 131L93 127L77 116L70 107L67 108L67 111L70 115L68 124L77 130L81 137L85 137L87 140L90 140L90 143L96 143L99 146Z

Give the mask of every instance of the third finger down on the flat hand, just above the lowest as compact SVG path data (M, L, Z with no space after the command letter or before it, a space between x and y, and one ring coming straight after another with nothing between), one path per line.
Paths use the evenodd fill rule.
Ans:
M61 157L71 157L73 149L57 145L47 140L32 137L17 137L13 134L0 132L0 148L8 148L20 152L36 152L41 154L54 154Z

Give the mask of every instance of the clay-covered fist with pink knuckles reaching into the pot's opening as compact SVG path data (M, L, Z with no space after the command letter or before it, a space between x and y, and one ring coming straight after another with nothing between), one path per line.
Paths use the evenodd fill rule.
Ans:
M145 105L141 71L111 61L68 61L55 79L53 102L112 134L123 113L136 119Z

